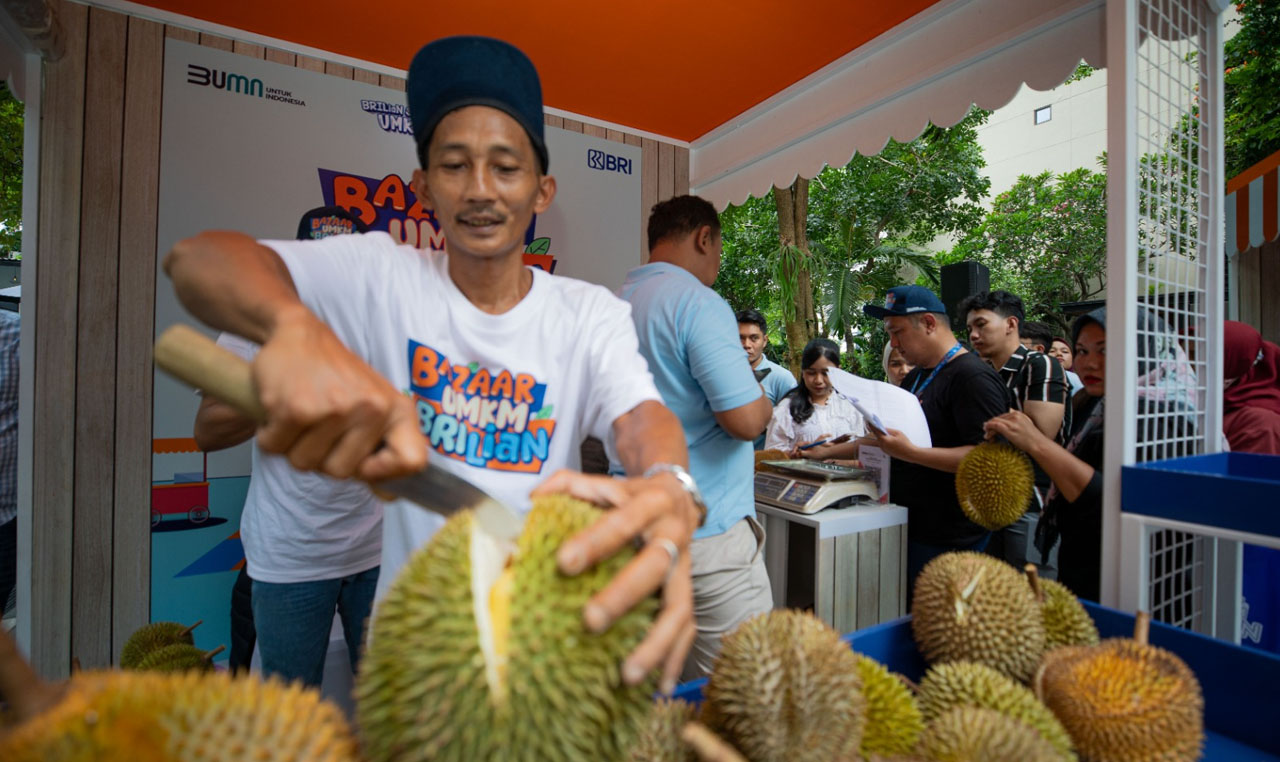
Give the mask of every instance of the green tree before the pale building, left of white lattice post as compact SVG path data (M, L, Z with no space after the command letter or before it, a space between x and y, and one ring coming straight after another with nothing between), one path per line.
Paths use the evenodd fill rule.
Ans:
M1021 175L972 233L940 257L991 269L992 288L1023 297L1028 319L1065 328L1062 302L1098 293L1106 275L1107 175L1074 169Z

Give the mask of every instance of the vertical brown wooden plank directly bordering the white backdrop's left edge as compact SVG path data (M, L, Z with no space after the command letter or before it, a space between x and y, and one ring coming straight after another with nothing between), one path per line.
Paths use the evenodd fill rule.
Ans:
M151 341L155 336L156 223L160 205L160 93L164 28L129 19L120 166L116 312L115 520L111 654L151 621Z

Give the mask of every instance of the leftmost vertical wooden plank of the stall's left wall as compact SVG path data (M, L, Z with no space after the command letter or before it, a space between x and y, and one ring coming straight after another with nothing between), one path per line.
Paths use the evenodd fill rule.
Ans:
M76 479L76 307L79 288L84 56L88 8L58 3L65 51L45 61L40 124L40 247L32 411L31 660L46 679L70 671L72 506Z

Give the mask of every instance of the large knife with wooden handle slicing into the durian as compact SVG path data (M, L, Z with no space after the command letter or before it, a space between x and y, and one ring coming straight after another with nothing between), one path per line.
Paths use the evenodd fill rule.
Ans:
M175 379L209 392L259 424L266 423L266 410L253 389L248 362L198 330L188 325L168 328L156 339L155 362ZM515 540L524 525L524 519L489 493L430 464L416 474L370 487L445 517L471 508L475 520L495 539Z

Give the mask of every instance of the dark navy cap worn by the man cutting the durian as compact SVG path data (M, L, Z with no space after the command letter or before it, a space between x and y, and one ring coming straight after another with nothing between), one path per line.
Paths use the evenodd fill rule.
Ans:
M520 123L547 172L543 87L534 61L493 37L458 36L428 42L408 65L404 86L419 155L449 111L490 106Z

